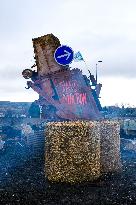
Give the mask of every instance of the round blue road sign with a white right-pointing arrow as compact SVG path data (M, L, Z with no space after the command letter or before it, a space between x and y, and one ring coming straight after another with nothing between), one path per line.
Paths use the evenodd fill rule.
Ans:
M59 46L54 53L55 61L60 65L68 65L74 58L73 50L66 45Z

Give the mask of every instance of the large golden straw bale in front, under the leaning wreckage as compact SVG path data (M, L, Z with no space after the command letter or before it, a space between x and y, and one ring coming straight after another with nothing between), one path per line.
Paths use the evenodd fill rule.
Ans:
M48 123L45 175L54 182L83 182L100 176L100 132L96 122Z

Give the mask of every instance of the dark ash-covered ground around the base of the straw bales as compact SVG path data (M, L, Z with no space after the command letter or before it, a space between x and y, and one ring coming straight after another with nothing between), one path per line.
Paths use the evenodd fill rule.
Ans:
M23 157L22 157L23 156ZM94 183L51 184L44 177L44 157L23 150L0 155L0 204L136 204L136 152L121 143L123 170Z

